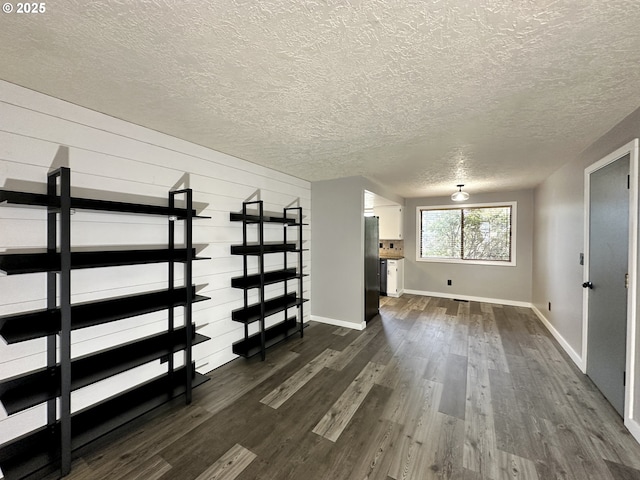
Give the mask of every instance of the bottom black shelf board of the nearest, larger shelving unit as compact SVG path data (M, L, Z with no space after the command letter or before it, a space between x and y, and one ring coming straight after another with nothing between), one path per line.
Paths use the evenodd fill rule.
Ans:
M208 377L195 372L195 388ZM169 400L183 395L186 370L173 372L170 379L164 374L129 389L71 416L72 449L77 450L91 441L117 429ZM59 423L41 427L0 446L0 467L7 480L21 479L39 471L52 471L59 463L56 447L60 435Z

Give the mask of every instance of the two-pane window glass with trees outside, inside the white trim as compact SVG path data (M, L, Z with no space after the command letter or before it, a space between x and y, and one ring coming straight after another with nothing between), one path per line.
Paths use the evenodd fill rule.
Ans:
M516 204L418 207L417 259L515 265Z

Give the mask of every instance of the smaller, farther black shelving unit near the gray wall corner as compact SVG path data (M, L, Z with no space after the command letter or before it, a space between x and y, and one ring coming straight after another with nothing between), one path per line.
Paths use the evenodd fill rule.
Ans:
M300 333L304 336L304 303L302 298L303 278L303 226L302 208L286 207L282 215L265 213L262 200L243 202L242 212L231 213L231 221L242 222L242 245L232 245L232 255L242 255L243 275L231 279L231 286L244 290L244 306L231 312L232 320L244 324L244 338L232 346L233 353L243 357L260 354L262 360L266 357L266 349L286 338ZM264 227L267 223L283 226L283 241L269 243L264 241ZM257 229L257 242L249 243L248 229ZM296 238L290 238L289 231L296 230ZM265 255L283 254L283 268L277 270L265 269ZM289 255L295 254L294 266L289 265ZM257 273L249 274L249 258L257 258ZM297 293L290 292L290 283L297 282ZM283 294L266 298L265 286L277 283L283 284ZM258 302L249 303L249 291L258 291ZM297 312L289 314L291 309ZM266 326L266 318L283 313L283 319L270 327ZM249 325L257 322L258 331L249 334Z

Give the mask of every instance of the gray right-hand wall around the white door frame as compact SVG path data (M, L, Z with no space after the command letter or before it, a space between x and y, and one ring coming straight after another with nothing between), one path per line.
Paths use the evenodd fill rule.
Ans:
M533 304L580 358L583 267L579 255L584 249L584 170L638 136L640 109L535 190ZM558 163L565 160L559 158ZM548 302L552 304L551 311Z

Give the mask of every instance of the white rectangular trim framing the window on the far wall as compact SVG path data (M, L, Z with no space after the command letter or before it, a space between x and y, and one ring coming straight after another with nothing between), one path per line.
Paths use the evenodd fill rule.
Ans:
M420 211L422 210L460 210L464 208L484 208L484 207L511 207L511 261L500 262L495 260L462 260L459 258L434 258L420 256L420 242L422 233L422 218ZM463 203L456 205L424 205L416 207L416 261L431 263L458 263L461 265L495 265L499 267L515 267L516 266L516 239L518 225L518 202L492 202L492 203Z

